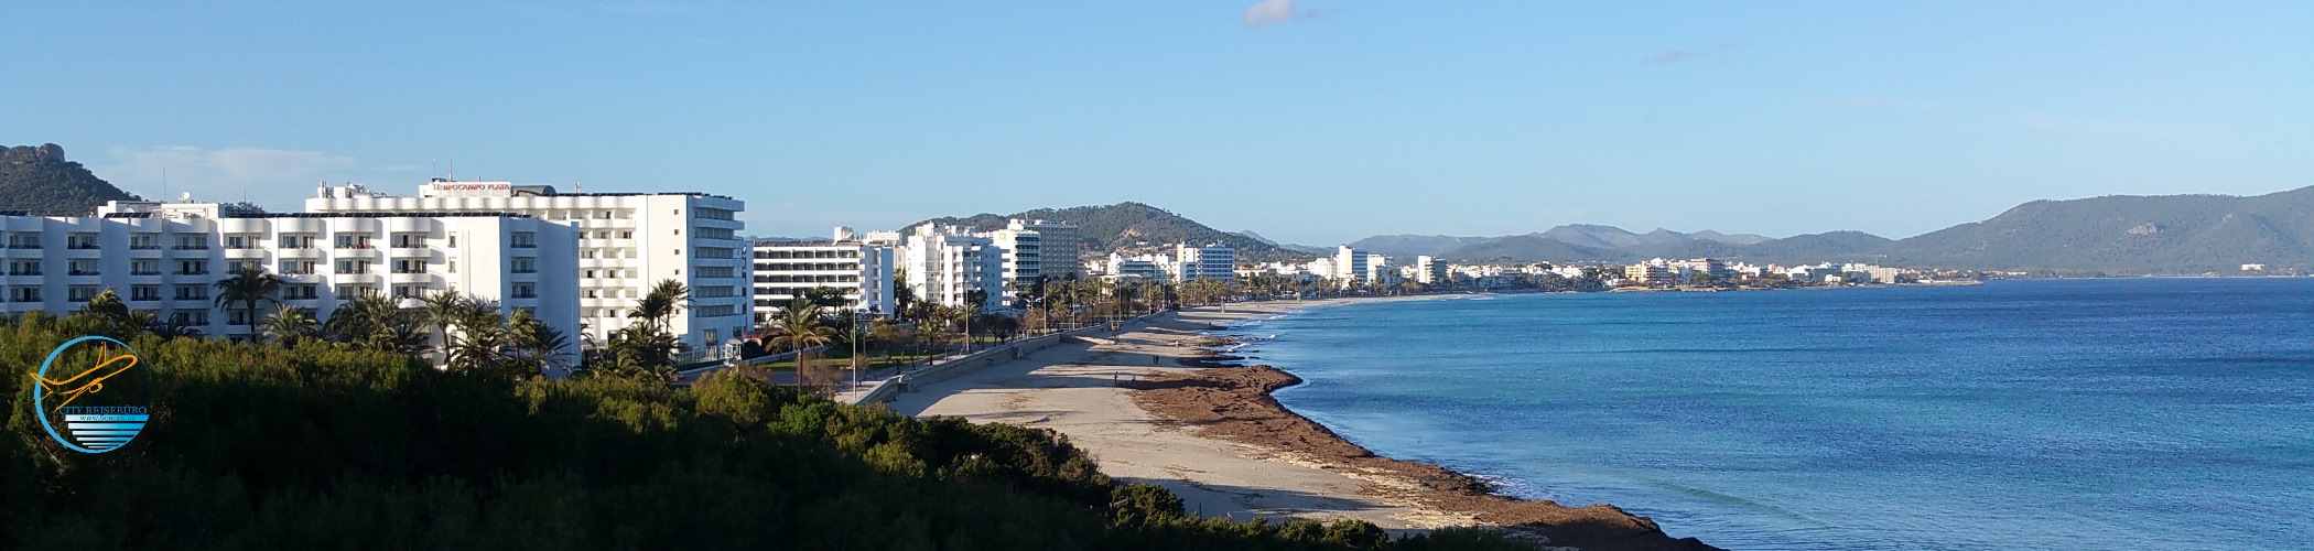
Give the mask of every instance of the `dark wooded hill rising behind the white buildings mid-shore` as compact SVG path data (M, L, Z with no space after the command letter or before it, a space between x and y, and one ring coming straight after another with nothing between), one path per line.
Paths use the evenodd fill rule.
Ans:
M1176 215L1148 204L1122 201L1111 206L1071 206L1071 208L1037 208L1014 215L970 215L970 218L933 218L905 227L902 232L916 229L921 225L963 225L974 232L1004 229L1007 218L1034 218L1053 222L1076 225L1078 236L1085 241L1085 255L1106 255L1118 248L1148 245L1173 245L1173 243L1222 243L1238 250L1240 262L1282 262L1282 259L1312 259L1307 252L1284 250L1280 245L1266 243L1254 236L1231 234L1199 225L1196 220Z

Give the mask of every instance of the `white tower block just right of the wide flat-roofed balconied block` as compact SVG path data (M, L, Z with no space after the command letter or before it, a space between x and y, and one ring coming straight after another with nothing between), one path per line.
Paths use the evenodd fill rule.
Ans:
M916 227L896 252L907 285L916 299L960 306L979 289L986 301L979 308L997 308L1004 301L1004 250L993 238L967 234L963 227Z

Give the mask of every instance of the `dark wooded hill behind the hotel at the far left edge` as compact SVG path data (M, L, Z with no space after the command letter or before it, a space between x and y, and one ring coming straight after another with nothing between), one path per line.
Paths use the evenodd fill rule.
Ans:
M65 160L65 148L56 144L0 150L0 211L90 215L104 201L134 199L139 197Z

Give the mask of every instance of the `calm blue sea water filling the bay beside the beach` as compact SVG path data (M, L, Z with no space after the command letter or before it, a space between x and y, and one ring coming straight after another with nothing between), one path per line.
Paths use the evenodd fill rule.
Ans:
M2314 278L1467 296L1231 333L1377 454L1726 549L2314 549Z

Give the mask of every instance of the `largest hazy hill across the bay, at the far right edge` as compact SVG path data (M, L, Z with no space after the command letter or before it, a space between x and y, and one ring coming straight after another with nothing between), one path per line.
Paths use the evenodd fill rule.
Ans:
M2314 188L2258 197L2164 194L2029 201L1879 248L1895 266L2062 273L2314 269Z

